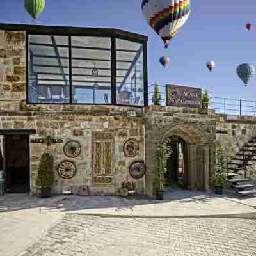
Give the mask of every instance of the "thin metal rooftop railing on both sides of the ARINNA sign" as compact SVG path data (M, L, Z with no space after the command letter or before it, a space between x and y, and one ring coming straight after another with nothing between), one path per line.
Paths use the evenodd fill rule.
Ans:
M161 94L160 103L162 106L166 106L165 86L158 85L158 88ZM148 86L148 105L153 105L153 92L154 84ZM256 101L253 100L210 97L209 108L220 114L256 117Z

